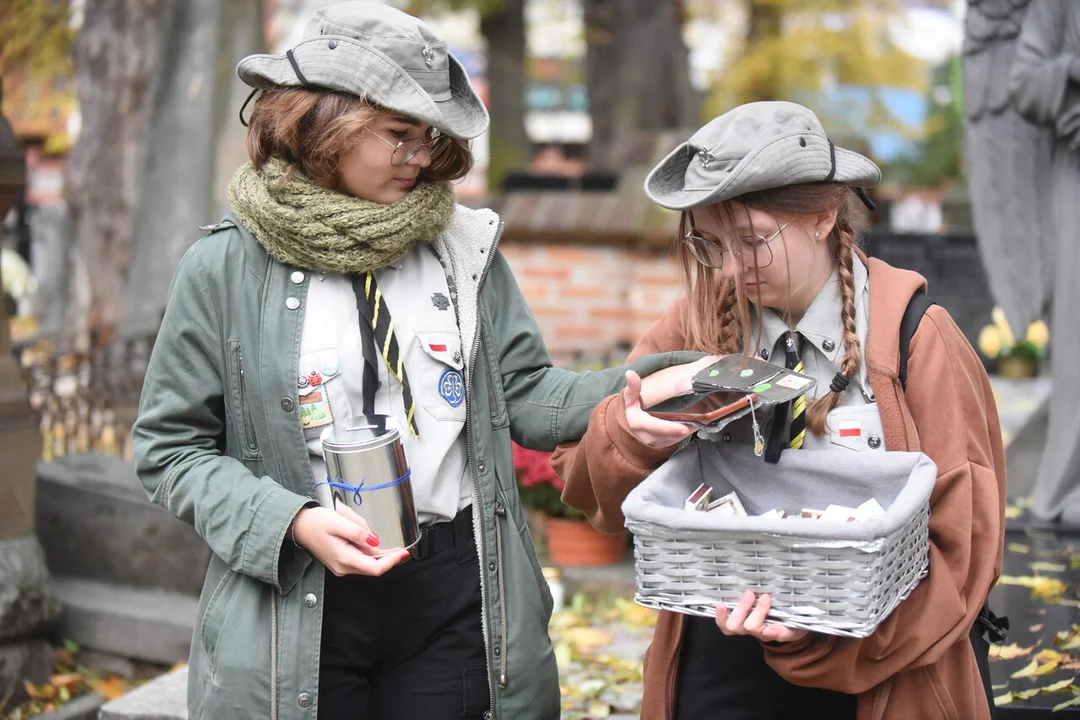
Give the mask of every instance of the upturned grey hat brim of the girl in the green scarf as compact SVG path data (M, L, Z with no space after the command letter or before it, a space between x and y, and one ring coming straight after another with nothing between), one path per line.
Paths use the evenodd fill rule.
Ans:
M293 47L308 86L363 95L462 140L487 130L487 109L473 91L469 73L453 55L448 54L449 97L436 99L379 51L345 37L334 37L337 42L329 50L328 37L305 40ZM305 86L287 55L248 55L237 65L237 74L257 90Z

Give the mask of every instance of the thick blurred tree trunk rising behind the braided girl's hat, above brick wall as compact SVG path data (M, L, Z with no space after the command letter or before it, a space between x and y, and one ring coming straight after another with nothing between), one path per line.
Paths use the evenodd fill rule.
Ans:
M696 127L699 98L683 41L683 0L583 0L590 162L613 167L638 130Z

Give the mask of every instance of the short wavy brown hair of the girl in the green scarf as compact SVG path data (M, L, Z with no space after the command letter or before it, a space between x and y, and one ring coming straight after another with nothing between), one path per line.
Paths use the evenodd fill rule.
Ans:
M256 169L281 158L315 182L334 188L341 157L380 117L394 114L365 97L330 90L275 87L255 101L247 126L247 155ZM419 179L448 182L472 168L469 142L445 136L432 146Z

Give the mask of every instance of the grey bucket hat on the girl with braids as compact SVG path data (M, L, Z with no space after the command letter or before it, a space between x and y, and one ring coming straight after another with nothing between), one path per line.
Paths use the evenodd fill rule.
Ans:
M795 103L748 103L725 112L660 161L645 194L661 207L687 210L804 182L863 188L881 181L868 158L833 145L816 116Z

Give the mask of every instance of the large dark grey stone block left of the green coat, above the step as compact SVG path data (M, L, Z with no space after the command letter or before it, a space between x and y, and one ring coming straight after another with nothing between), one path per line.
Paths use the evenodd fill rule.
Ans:
M97 453L38 466L38 536L54 574L198 595L210 547L152 504L132 462Z

